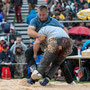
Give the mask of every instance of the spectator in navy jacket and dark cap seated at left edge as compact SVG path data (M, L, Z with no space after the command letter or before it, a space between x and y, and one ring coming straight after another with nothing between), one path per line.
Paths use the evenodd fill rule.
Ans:
M13 53L8 49L7 44L3 44L3 51L0 52L0 64L5 64L7 63L8 66L10 67L11 71L11 77L14 77L14 66L12 63L14 62L14 55ZM1 67L0 66L0 72L1 72Z

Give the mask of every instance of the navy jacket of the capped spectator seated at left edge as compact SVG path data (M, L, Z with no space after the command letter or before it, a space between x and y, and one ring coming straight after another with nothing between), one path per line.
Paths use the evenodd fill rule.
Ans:
M4 51L0 52L0 63L4 61L5 63L13 62L14 55L11 51L8 50L7 54Z

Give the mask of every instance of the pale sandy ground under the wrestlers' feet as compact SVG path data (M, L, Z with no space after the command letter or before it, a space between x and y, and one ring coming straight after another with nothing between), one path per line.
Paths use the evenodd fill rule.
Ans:
M62 82L50 82L47 86L40 86L39 82L29 85L27 79L0 79L0 90L90 90L90 83L69 85Z

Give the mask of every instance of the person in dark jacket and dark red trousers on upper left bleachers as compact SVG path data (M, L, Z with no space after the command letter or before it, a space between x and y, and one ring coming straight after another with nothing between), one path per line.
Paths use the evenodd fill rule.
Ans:
M15 14L17 18L17 22L22 22L22 15L21 15L21 6L22 6L22 0L13 0L12 2L14 9L15 9Z

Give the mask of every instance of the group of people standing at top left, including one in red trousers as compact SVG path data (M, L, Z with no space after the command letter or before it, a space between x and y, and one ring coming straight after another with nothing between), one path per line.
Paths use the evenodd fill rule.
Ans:
M15 12L17 22L22 22L21 6L22 0L0 0L0 22L7 21L10 12Z

